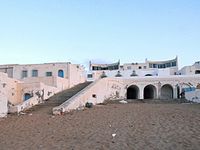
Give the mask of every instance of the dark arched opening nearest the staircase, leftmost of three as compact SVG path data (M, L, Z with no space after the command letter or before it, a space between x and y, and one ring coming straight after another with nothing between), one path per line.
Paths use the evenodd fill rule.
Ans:
M139 99L139 88L136 85L131 85L127 89L127 99Z

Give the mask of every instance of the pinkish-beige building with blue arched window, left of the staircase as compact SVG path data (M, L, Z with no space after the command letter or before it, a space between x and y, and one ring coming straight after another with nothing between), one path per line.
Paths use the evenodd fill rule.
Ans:
M45 63L0 65L1 113L19 112L86 81L81 65Z

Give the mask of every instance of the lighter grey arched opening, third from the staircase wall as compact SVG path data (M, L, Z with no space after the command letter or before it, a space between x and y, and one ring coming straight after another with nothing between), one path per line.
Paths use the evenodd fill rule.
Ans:
M161 87L161 99L172 99L173 87L169 84L165 84Z

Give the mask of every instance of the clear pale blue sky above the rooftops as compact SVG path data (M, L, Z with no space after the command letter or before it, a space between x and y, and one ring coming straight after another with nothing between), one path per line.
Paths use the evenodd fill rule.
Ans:
M200 60L200 0L0 0L0 64Z

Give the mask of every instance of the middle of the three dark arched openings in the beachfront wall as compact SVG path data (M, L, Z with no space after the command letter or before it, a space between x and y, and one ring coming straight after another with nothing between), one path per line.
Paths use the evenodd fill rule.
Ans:
M153 85L147 85L144 88L144 99L154 99L156 98L156 87Z

